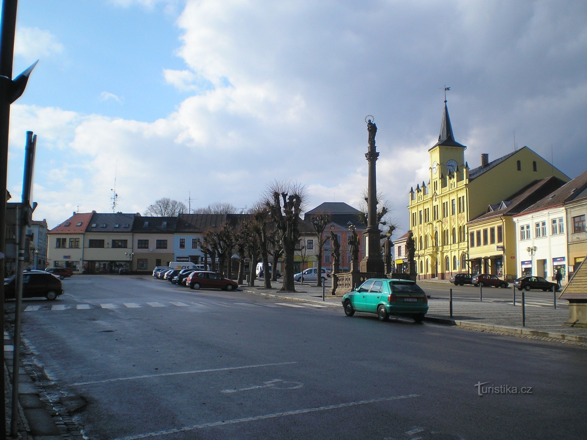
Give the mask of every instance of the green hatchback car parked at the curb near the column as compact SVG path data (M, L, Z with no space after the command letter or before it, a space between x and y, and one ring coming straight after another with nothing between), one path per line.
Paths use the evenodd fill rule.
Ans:
M428 297L415 282L370 278L342 297L346 316L355 312L377 313L381 321L389 315L406 316L421 322L428 312Z

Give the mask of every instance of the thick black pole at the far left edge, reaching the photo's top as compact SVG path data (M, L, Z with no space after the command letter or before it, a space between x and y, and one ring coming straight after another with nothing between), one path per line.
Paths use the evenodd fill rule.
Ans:
M0 30L0 76L12 80L12 61L14 59L14 35L16 31L16 6L18 0L4 0L2 2L2 29ZM5 239L6 239L6 175L8 173L8 127L10 125L10 104L6 81L0 82L0 277L4 278ZM4 331L4 284L0 286L0 329ZM2 342L4 346L4 342ZM4 350L3 350L4 351ZM18 365L17 365L18 368ZM0 378L2 384L2 398L0 399L0 414L6 414L4 401L5 383L4 374ZM6 433L5 417L0 417L0 432Z

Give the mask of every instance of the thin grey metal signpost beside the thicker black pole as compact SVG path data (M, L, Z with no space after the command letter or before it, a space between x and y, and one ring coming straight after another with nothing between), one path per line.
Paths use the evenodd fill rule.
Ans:
M21 314L22 314L22 282L25 270L26 226L29 225L31 214L31 188L33 165L35 164L36 136L32 131L26 132L25 171L22 182L22 203L17 207L18 222L18 261L15 279L15 315L14 315L14 351L12 352L12 419L11 435L18 435L18 379L21 357ZM35 205L36 207L36 205Z

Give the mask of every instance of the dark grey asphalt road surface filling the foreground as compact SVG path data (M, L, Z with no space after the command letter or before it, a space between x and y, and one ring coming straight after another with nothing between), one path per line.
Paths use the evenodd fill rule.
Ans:
M23 336L59 388L89 402L78 421L90 439L587 431L583 347L134 276L64 287L55 302L24 301ZM480 397L485 382L532 388Z

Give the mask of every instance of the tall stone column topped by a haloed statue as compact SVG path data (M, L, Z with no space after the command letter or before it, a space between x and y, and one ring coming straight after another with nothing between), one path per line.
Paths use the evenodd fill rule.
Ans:
M373 117L372 117L373 118ZM375 120L373 118L373 120ZM365 158L369 163L369 182L367 184L367 229L363 234L366 236L365 258L361 260L361 272L383 274L383 259L381 258L381 231L377 222L377 178L375 163L379 153L375 150L375 134L377 126L371 119L367 121L367 132L369 133L369 150Z

